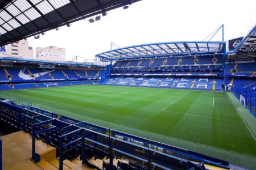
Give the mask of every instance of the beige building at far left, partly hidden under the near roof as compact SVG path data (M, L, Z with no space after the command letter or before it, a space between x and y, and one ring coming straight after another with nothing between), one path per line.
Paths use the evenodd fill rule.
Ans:
M28 41L17 41L12 44L1 46L0 57L19 57L31 58L34 56L34 50L29 46Z

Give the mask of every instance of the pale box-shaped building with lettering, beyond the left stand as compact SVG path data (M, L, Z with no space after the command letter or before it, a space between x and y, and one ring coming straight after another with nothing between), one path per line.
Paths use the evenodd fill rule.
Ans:
M36 59L48 61L65 61L65 48L48 46L46 48L36 47Z

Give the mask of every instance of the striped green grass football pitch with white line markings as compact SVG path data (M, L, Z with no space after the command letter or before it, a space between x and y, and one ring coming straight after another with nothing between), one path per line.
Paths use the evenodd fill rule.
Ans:
M6 99L31 101L36 107L53 113L234 163L242 164L237 159L243 156L255 162L253 127L246 124L231 95L213 91L99 85L0 93L0 97Z

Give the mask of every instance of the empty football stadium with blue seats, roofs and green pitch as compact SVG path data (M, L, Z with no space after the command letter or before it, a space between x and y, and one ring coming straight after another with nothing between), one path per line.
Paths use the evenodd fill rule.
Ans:
M139 1L0 1L1 52ZM94 63L0 57L0 170L256 169L256 25L217 32Z

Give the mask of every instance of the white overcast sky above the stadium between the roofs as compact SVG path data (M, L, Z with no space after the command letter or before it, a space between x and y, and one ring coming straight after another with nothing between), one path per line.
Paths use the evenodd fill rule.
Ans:
M30 46L58 46L66 49L66 60L75 56L94 59L120 47L170 41L201 41L224 24L225 41L246 36L256 23L255 0L143 0L129 9L109 11L100 21L88 19L49 31ZM214 39L221 41L221 32Z

